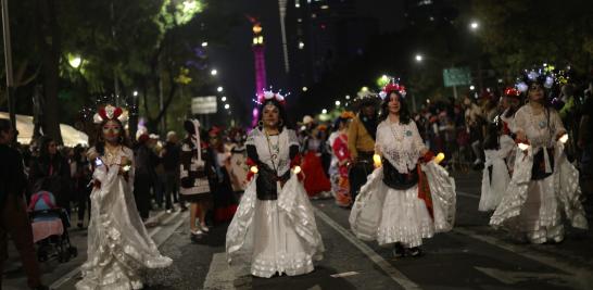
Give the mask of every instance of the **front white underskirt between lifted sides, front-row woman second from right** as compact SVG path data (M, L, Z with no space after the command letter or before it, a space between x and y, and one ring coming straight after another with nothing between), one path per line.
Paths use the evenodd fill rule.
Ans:
M406 190L384 186L383 190L387 193L377 232L379 244L401 242L404 247L418 247L422 239L432 238L434 223L418 198L418 186Z

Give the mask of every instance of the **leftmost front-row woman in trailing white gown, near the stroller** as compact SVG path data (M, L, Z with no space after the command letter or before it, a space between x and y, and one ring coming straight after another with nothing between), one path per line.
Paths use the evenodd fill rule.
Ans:
M94 115L98 141L88 151L94 163L90 196L87 262L81 266L78 290L142 289L139 272L172 264L161 255L142 224L134 199L135 161L125 146L121 108L108 105Z

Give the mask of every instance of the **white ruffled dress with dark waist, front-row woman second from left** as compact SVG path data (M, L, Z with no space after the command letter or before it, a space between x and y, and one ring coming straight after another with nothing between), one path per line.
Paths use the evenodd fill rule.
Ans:
M255 128L248 144L255 146L261 162L283 174L290 169L289 147L299 144L293 130L283 129L278 136L269 136L278 151L268 149L265 135ZM280 174L280 175L281 175ZM324 243L317 230L313 206L296 175L291 173L283 187L277 188L277 200L258 200L255 180L248 184L239 209L226 236L228 262L249 266L253 276L269 278L275 274L289 276L313 272L314 261L323 259Z

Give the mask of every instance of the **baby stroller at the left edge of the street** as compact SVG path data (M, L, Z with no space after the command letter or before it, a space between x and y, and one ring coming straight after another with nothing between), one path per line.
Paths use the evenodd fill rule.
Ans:
M78 250L70 242L70 217L64 209L55 206L55 198L51 192L39 191L33 194L28 212L39 262L58 256L60 263L65 263L78 255Z

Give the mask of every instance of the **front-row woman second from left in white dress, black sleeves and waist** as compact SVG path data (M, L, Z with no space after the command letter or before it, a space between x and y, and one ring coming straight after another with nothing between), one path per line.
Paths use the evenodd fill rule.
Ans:
M299 140L286 125L283 96L266 91L260 112L247 140L251 181L226 235L228 261L263 278L307 274L324 244L301 181Z

